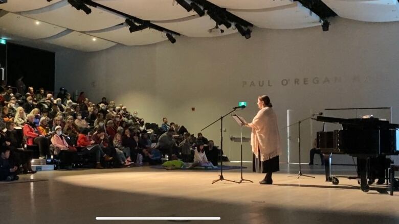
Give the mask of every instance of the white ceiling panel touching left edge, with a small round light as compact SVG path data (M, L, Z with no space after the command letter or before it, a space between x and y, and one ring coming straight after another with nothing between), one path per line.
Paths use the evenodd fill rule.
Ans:
M0 34L2 36L8 34L29 39L41 39L54 36L64 30L65 28L11 12L0 17Z

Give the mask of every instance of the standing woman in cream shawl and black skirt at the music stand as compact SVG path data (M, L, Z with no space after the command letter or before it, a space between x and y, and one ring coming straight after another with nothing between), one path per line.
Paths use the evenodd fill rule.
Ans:
M259 96L258 108L260 110L252 122L245 125L252 129L253 171L266 173L264 179L259 182L260 184L273 184L272 174L280 170L280 135L277 116L272 107L269 96Z

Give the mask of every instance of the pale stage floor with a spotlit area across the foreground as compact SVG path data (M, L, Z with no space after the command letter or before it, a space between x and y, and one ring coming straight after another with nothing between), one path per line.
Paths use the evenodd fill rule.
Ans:
M238 163L229 163L238 165ZM160 170L132 167L106 170L42 171L21 179L43 180L0 184L1 223L170 223L171 221L97 221L97 216L218 216L219 221L190 223L399 223L399 192L393 196L362 192L354 180L324 181L322 166L303 165L316 178L288 178L298 165L280 164L274 185L211 184L218 171ZM335 166L335 174L355 173ZM224 172L238 180L239 170ZM178 221L174 221L178 222Z

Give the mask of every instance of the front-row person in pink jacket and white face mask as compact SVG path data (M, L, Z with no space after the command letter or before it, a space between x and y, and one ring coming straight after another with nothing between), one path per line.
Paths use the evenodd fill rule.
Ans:
M55 135L51 138L51 143L55 147L54 155L58 156L60 166L72 169L72 163L77 161L78 154L75 147L70 147L62 134L61 126L55 127Z

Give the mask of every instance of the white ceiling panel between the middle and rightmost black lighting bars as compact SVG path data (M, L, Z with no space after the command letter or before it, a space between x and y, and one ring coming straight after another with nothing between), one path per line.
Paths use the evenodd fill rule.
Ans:
M321 24L319 16L299 2L271 9L229 11L260 28L299 29Z

